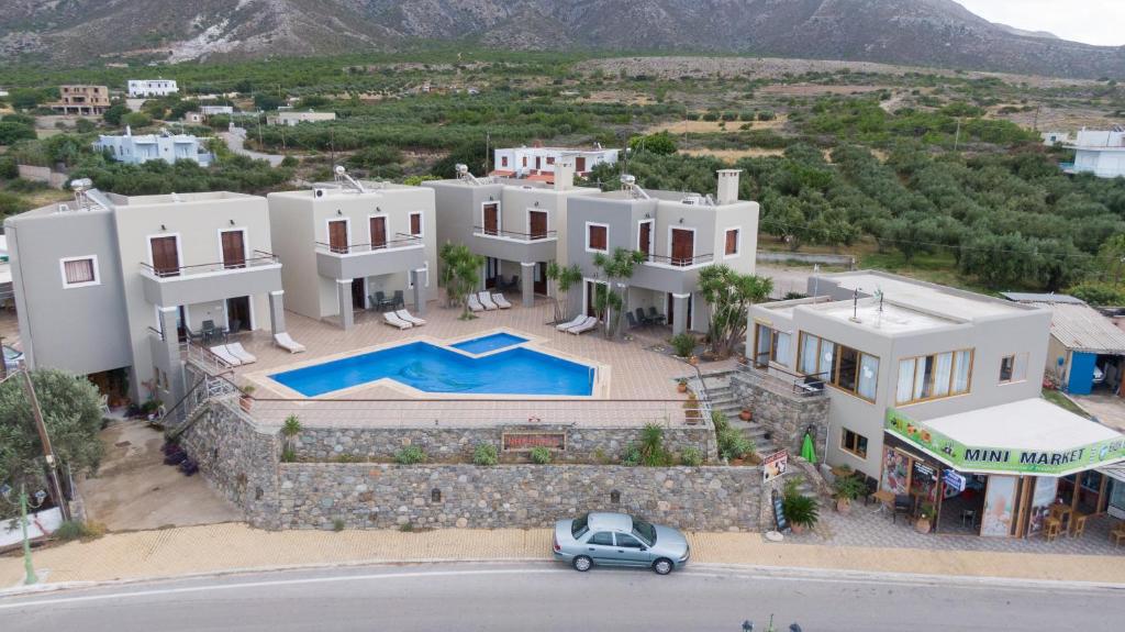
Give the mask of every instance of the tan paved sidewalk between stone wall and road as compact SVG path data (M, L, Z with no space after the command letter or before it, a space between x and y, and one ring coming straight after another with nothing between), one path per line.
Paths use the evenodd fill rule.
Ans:
M1125 584L1117 557L772 544L754 533L688 534L696 562ZM549 559L549 530L279 531L240 523L115 533L35 553L47 583L104 581L305 565ZM22 561L0 558L0 587Z

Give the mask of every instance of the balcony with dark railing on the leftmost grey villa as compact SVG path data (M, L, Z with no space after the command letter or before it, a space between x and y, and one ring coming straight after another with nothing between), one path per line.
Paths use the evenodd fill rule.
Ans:
M281 262L271 253L254 251L240 264L202 263L156 269L141 264L144 297L163 307L192 305L281 289Z

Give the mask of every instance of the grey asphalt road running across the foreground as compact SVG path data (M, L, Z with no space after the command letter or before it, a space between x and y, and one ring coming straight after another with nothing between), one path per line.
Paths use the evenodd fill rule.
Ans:
M0 598L0 630L1119 631L1120 589L752 571L459 563L253 574Z

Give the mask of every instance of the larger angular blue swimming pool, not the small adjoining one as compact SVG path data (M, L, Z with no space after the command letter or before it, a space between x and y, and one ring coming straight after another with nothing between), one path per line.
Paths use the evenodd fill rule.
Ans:
M594 372L592 367L522 346L469 358L426 342L412 342L270 378L305 397L382 378L426 392L588 396L594 391Z

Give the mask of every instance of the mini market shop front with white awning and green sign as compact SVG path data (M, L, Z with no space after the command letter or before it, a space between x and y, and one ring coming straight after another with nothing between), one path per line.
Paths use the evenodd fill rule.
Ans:
M1125 518L1125 472L1105 473L1125 462L1125 436L1046 400L925 422L889 408L884 430L881 489L937 532L1081 534L1094 516Z

